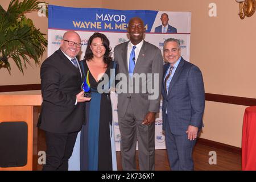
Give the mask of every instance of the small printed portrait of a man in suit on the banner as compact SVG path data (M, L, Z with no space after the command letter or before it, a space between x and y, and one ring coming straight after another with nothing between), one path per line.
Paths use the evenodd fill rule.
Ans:
M160 20L162 21L162 25L155 27L155 33L177 33L177 29L168 24L169 18L166 13L161 15Z

